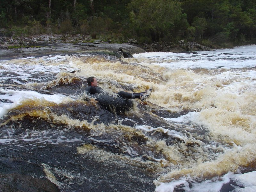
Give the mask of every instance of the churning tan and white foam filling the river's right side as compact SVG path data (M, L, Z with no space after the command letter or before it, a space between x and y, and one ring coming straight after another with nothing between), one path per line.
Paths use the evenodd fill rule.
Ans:
M255 93L256 93L256 46L242 46L234 49L222 49L210 52L197 52L195 54L175 54L175 53L140 53L135 54L137 62L145 66L158 65L171 69L170 78L167 84L168 92L172 94L171 100L177 102L157 102L170 110L179 111L180 108L200 108L199 112L190 112L178 118L167 118L168 121L176 123L190 122L203 125L211 133L215 140L224 140L227 143L233 143L235 148L227 148L229 155L220 157L224 162L229 159L225 166L237 166L246 164L254 159L255 141L256 141L256 111L255 111ZM196 72L196 73L195 73ZM160 85L161 86L161 85ZM159 93L159 92L158 92ZM169 95L159 93L158 97ZM170 96L168 96L170 97ZM155 98L153 98L155 99ZM170 99L166 99L169 100ZM191 102L194 100L194 102ZM171 103L171 104L170 104ZM185 104L186 103L186 104ZM207 147L207 146L205 146ZM224 147L224 146L223 146ZM225 147L224 147L225 148ZM234 151L233 151L234 150ZM233 152L232 152L233 151ZM241 153L236 157L236 153ZM221 156L221 155L220 155ZM246 156L246 157L245 157ZM230 160L230 158L232 160ZM242 158L242 159L239 159ZM220 162L208 162L209 166L219 167ZM173 191L175 186L184 185L185 191L220 191L223 184L230 180L236 180L244 188L235 186L234 191L255 191L256 172L244 174L233 174L229 172L223 178L216 177L212 180L203 182L194 181L191 176L196 173L196 177L211 172L211 169L205 163L198 164L194 169L177 169L165 176L162 183L156 187L157 192ZM214 165L216 164L216 165ZM218 167L218 168L217 168ZM175 173L180 174L179 180L173 180L170 183L167 178L175 177ZM180 172L180 173L179 173ZM187 172L187 176L183 176ZM205 172L205 173L204 173ZM212 170L212 172L214 172ZM236 172L239 172L237 168ZM207 173L208 174L208 173ZM250 176L249 176L250 175ZM194 175L195 177L195 175ZM167 180L166 180L167 179ZM221 180L221 181L220 181ZM157 182L156 182L157 183ZM192 184L191 184L192 183ZM192 186L189 186L192 185Z

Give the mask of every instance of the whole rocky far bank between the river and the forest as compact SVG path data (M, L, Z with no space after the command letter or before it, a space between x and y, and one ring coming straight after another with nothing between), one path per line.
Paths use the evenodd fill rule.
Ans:
M129 42L129 43L128 43ZM117 52L119 47L130 54L142 52L194 52L211 51L210 47L196 42L166 43L154 42L138 45L134 42L116 43L96 40L91 36L77 35L38 35L29 37L0 37L0 60L47 56L58 54L74 54L84 52Z

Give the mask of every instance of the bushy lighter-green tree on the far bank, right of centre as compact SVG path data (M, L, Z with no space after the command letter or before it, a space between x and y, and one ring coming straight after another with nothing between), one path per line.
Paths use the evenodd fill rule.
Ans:
M182 18L181 4L172 0L133 0L129 28L135 28L135 36L150 36L152 41L175 39Z

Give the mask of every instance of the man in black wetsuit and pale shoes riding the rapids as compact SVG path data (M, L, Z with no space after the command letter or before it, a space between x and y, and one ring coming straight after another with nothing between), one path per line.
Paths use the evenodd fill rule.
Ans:
M88 87L86 87L85 91L94 95L94 94L100 94L103 92L102 88L98 87L98 82L97 79L95 77L89 77L87 79L87 83L88 83ZM118 96L126 98L126 99L140 99L141 101L144 101L145 99L147 99L148 97L150 97L151 91L152 91L151 87L150 89L148 89L145 92L140 92L140 93L128 93L128 92L124 92L124 91L120 91L118 92Z

